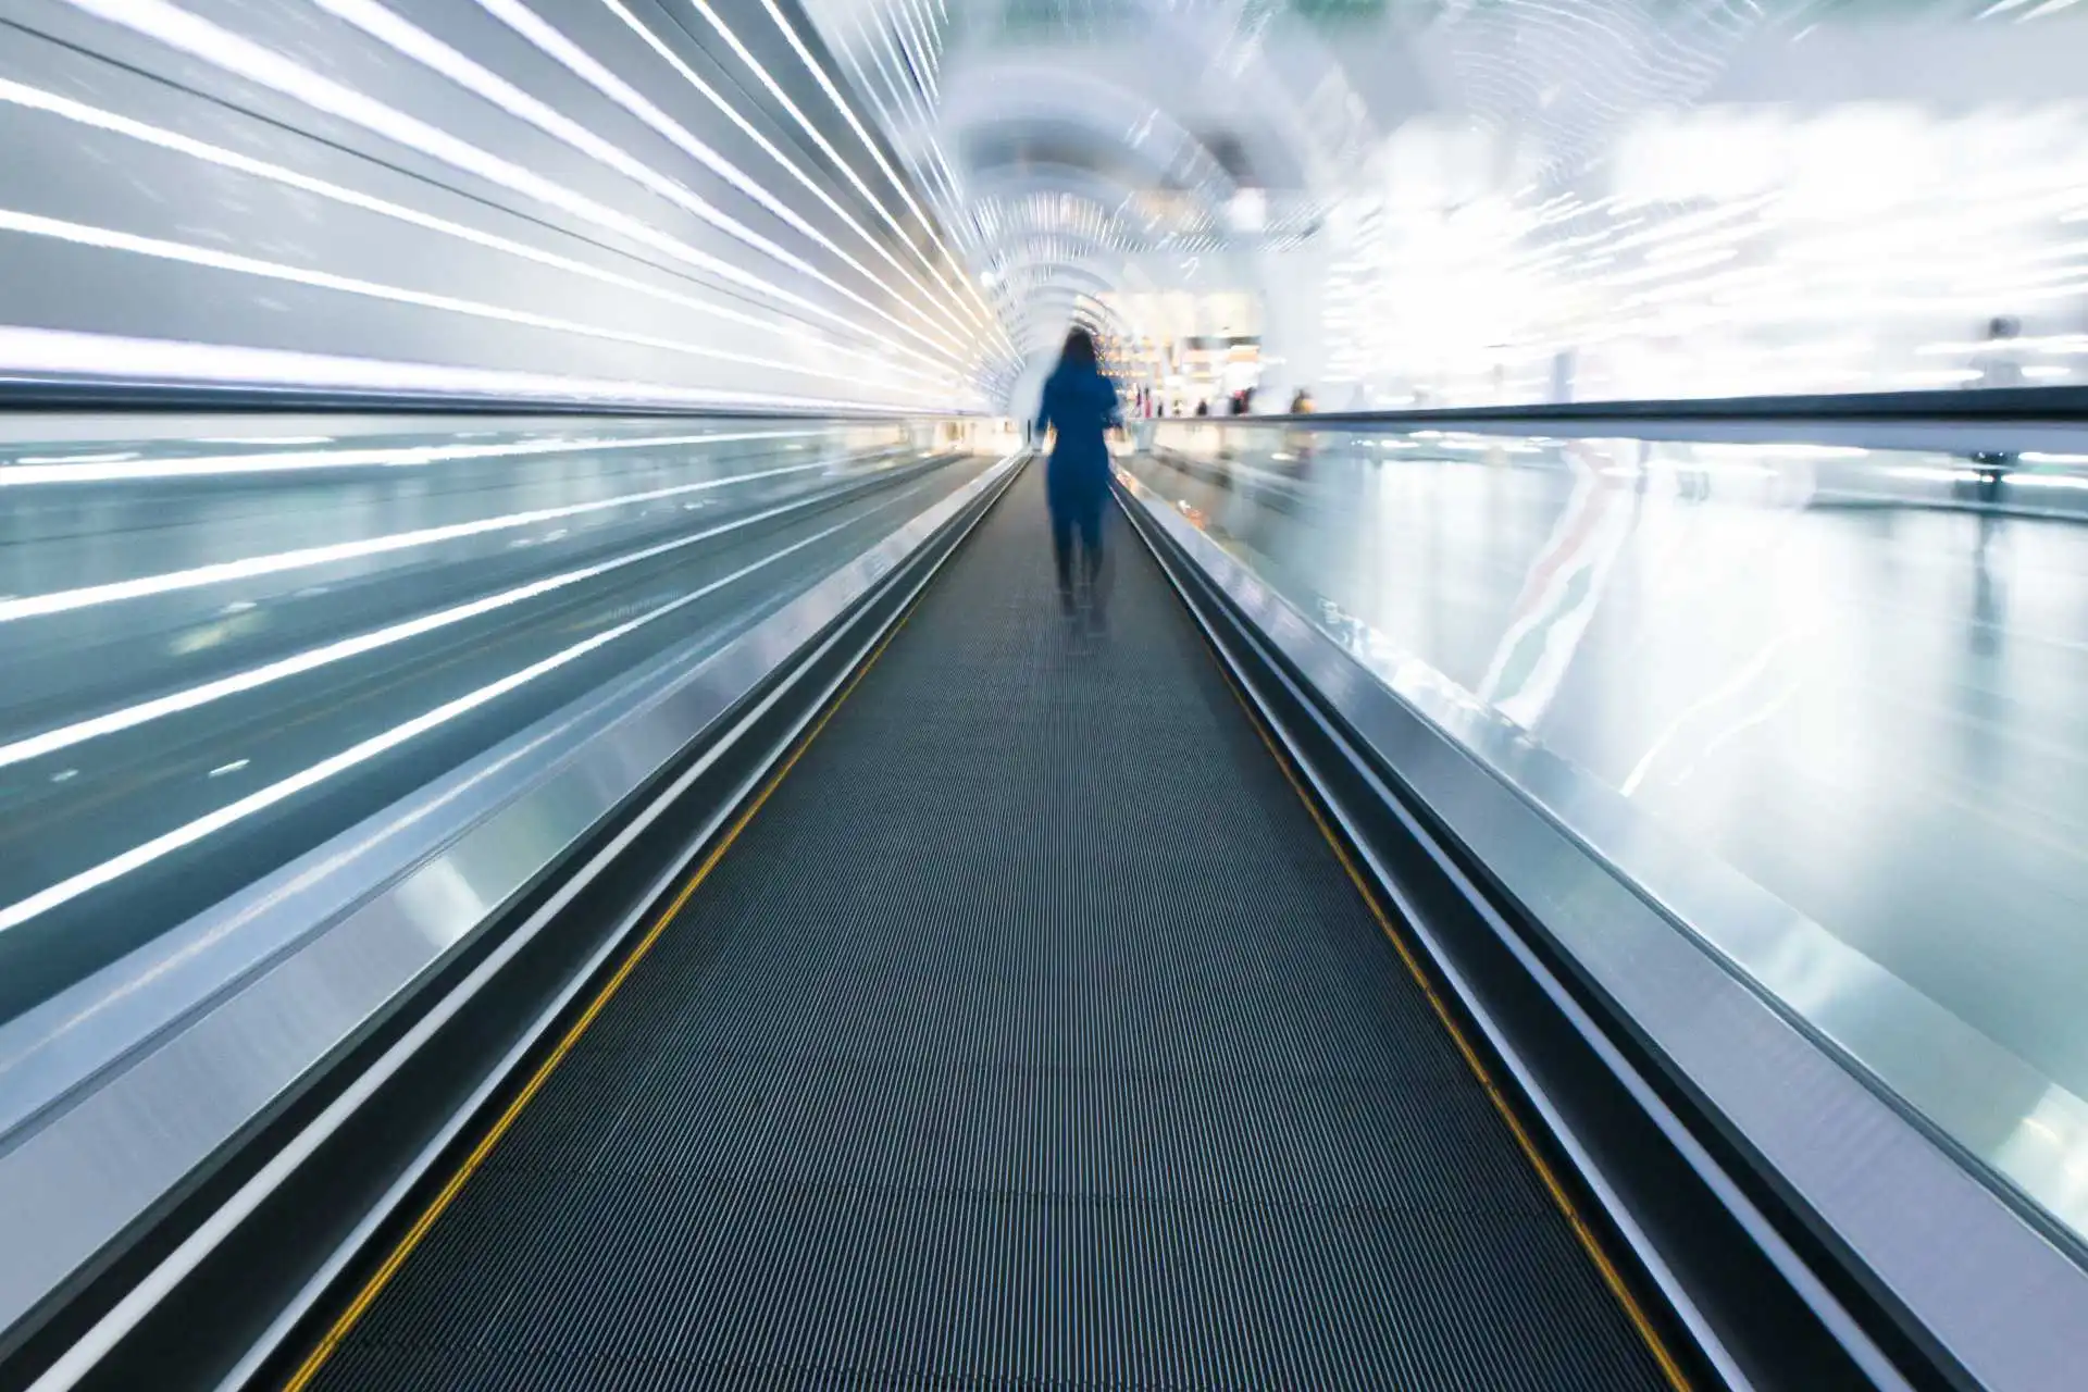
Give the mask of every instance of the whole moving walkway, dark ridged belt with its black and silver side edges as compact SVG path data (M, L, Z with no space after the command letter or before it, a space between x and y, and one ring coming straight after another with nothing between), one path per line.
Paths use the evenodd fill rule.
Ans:
M382 1008L33 1302L10 1386L2059 1386L2063 1338L1975 1375L1823 1221L1904 1152L1777 1169L1762 1091L1606 975L1656 916L1553 822L1432 795L1470 760L1138 476L1061 614L1025 465L656 653L562 735L595 801L484 793L282 945L288 989L422 929ZM1589 910L1618 960L1576 952ZM1877 1104L1693 952L1656 966L1727 1031L1698 1048Z

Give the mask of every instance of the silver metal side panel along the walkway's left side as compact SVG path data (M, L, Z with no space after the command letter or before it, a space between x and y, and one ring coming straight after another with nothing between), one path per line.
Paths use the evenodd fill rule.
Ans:
M29 1121L0 1142L0 1329L19 1336L31 1311L177 1194L200 1165L1015 461L1011 455L988 467L693 670L654 670L620 699L555 716L468 766L432 799L461 822L447 839L424 820L430 808L416 803L395 824L351 833L242 895L188 939L209 945L230 933L288 933L288 945L263 970L159 1035L136 1039L63 1104L25 1108ZM372 887L357 856L395 849L397 841L386 845L393 837L418 847L434 841L438 849ZM309 933L305 895L330 877L345 877L363 897ZM152 975L117 995L150 991ZM10 1056L33 1054L33 1043L19 1043Z

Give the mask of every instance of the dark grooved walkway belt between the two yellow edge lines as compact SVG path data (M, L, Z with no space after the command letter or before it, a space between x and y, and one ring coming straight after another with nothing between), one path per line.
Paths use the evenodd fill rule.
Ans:
M1121 518L1059 614L1040 474L292 1386L1679 1382Z

